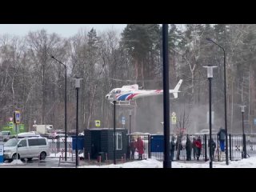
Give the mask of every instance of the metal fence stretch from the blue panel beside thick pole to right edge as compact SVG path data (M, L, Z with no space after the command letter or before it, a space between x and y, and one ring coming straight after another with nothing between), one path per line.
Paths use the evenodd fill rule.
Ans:
M175 149L174 149L174 161L181 160L186 161L186 138L190 138L190 141L193 142L193 138L201 138L202 141L202 150L200 153L199 161L207 161L210 158L209 150L209 134L184 134L181 137L181 147L178 149L177 137L175 137ZM213 161L222 162L226 160L225 150L222 151L220 148L220 143L218 141L218 135L212 134L212 138L216 143L216 149L214 150ZM170 136L171 140L171 136ZM150 157L163 160L163 135L150 135ZM237 161L242 159L242 134L229 134L228 135L228 153L229 159L231 161ZM256 156L256 134L246 134L246 157ZM191 160L196 160L194 158L194 151L191 150Z

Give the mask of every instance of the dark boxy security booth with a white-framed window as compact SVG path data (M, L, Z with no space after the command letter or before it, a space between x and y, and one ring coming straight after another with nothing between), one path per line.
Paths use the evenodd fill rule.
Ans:
M124 158L127 150L127 130L116 128L116 159ZM114 159L114 129L113 128L91 128L84 130L85 158L98 159L102 156L102 162Z

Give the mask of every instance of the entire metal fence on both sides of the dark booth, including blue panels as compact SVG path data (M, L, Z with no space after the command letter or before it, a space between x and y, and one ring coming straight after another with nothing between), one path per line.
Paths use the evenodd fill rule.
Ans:
M172 135L171 135L172 136ZM170 136L170 140L171 140ZM175 136L174 136L175 137ZM181 148L178 149L175 146L174 149L174 161L178 158L180 161L186 161L186 138L189 137L190 141L193 142L193 138L201 138L202 150L199 157L199 161L207 161L210 157L209 154L209 135L208 134L184 134L181 138ZM142 139L143 142L143 154L142 159L154 158L157 160L163 160L164 154L164 140L163 135L150 135L150 134L130 134L128 135L128 148L127 148L127 158L131 158L130 142L134 139L136 142L138 138ZM226 160L225 151L220 149L220 143L218 141L218 135L212 134L212 138L216 143L216 149L214 151L213 161L222 162ZM175 144L177 143L177 137L175 137ZM58 154L65 150L65 138L48 138L50 145L50 153ZM228 135L228 153L229 159L231 161L237 161L242 159L242 134L229 134ZM179 151L179 153L178 153ZM72 153L72 138L67 138L67 152ZM179 154L179 155L178 155ZM246 157L256 156L256 134L246 134ZM138 149L135 150L134 160L138 160ZM194 158L194 151L191 150L191 160L196 160Z

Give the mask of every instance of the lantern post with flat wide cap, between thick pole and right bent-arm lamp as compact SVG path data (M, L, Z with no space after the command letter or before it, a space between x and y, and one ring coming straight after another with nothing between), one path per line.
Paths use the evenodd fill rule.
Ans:
M209 79L209 128L210 128L210 168L213 168L213 154L212 154L212 142L213 139L211 138L211 79L214 77L214 68L217 66L204 66L207 68L207 78Z

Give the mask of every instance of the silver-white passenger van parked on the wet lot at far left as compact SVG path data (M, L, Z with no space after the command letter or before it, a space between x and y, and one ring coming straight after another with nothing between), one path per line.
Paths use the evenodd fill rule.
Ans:
M18 141L18 142L17 142ZM45 159L50 155L50 149L47 138L11 138L4 144L3 156L4 160L16 159L16 148L18 147L18 159L29 161L32 158Z

